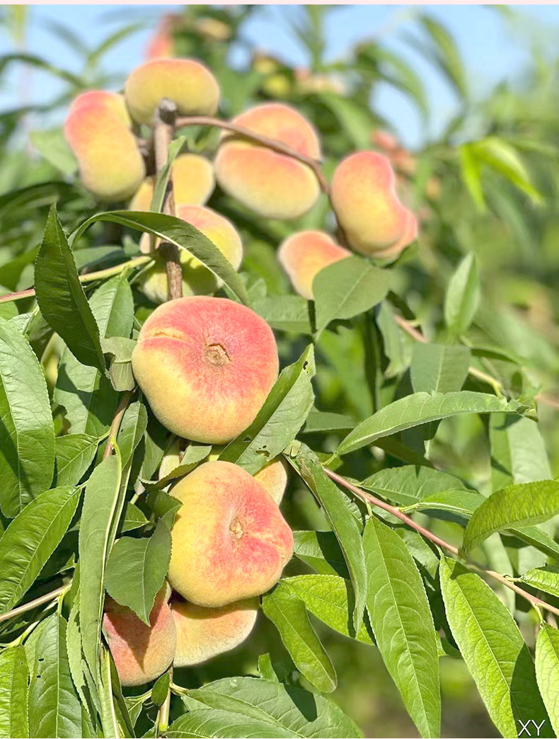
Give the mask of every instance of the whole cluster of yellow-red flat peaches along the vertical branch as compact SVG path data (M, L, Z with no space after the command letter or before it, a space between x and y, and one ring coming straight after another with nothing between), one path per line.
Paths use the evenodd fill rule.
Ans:
M155 58L131 73L124 95L87 92L72 104L66 139L83 185L100 200L131 199L132 210L150 209L154 176L146 177L140 134L164 98L179 117L197 116L201 123L218 108L219 86L198 61ZM185 120L179 118L179 125ZM176 216L205 234L233 268L241 265L239 234L206 205L216 181L268 219L301 217L321 189L329 191L343 245L323 231L301 231L278 250L295 291L306 299L312 299L315 275L350 256L350 249L394 259L414 240L416 219L399 202L394 172L382 154L351 154L325 188L313 166L320 159L318 134L292 107L261 104L222 128L213 163L200 154L180 154L171 180ZM171 487L182 507L171 531L168 585L157 594L150 626L106 601L104 630L124 685L150 681L171 662L199 664L243 641L255 623L258 596L278 581L293 547L278 508L287 485L284 463L272 460L253 477L217 459L219 445L250 426L278 377L270 327L250 308L214 296L219 282L187 252L181 256L184 297L165 302L165 260L147 235L140 248L154 260L140 287L160 305L140 330L134 377L166 429L180 440L218 446L209 461Z

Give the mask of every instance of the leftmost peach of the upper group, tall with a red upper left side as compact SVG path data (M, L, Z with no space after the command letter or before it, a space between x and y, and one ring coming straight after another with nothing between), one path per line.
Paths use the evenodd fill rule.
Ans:
M100 200L126 200L145 177L136 139L115 107L82 102L64 125L83 185Z

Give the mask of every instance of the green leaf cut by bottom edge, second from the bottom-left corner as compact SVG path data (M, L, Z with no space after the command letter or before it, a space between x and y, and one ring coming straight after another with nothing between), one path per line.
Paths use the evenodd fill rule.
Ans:
M66 652L66 621L53 613L38 626L30 666L29 724L32 737L83 736L81 706Z

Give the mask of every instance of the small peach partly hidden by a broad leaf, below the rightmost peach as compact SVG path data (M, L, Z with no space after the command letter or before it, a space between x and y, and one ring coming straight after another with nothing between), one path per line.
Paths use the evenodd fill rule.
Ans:
M328 265L351 256L323 231L300 231L292 234L278 249L278 259L287 273L293 289L307 300L312 300L312 281Z

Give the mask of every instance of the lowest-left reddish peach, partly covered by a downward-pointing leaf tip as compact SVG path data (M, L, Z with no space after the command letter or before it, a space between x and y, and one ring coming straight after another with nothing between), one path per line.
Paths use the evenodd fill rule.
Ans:
M157 593L146 626L133 610L112 598L105 601L103 630L120 683L143 685L162 675L174 659L176 628L168 606L168 585Z

